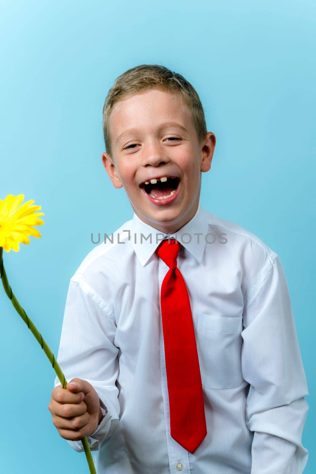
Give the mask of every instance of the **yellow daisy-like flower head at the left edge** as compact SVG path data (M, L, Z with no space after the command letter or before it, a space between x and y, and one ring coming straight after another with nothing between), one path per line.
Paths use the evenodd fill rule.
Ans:
M44 216L43 212L35 212L40 210L41 206L31 206L32 200L25 202L18 209L18 206L24 199L24 194L8 196L2 201L0 199L0 247L6 252L12 248L18 252L18 242L29 244L30 239L27 236L41 237L41 234L33 226L44 224L38 216Z

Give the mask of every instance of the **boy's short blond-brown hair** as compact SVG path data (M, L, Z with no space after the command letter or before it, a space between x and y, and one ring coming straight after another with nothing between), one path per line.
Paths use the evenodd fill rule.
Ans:
M182 105L186 105L192 114L199 144L207 134L204 110L194 87L181 74L159 64L140 64L117 77L108 91L103 106L103 136L106 152L112 157L112 144L108 122L114 105L127 96L139 94L149 89L178 94Z

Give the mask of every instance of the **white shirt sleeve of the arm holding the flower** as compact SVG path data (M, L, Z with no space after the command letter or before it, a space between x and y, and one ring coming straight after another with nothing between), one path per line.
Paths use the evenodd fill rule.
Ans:
M99 444L112 436L119 421L115 333L115 318L108 303L82 275L74 275L67 293L57 362L67 383L76 377L86 380L99 395L103 419L87 437L91 451L97 451ZM57 385L61 381L56 376L54 387ZM66 441L75 451L83 451L81 441Z

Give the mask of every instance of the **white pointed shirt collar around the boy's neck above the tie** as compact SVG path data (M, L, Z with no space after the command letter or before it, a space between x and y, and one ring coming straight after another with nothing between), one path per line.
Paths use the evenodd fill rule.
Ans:
M176 238L181 243L181 245L183 245L190 252L190 254L192 254L198 260L199 263L202 261L205 249L205 236L208 233L208 220L208 212L199 202L198 209L192 219L177 232L170 234L169 236L170 238ZM143 236L141 236L141 234L143 234ZM145 264L155 252L156 248L159 246L160 242L164 238L168 238L168 234L164 234L158 229L146 224L141 219L139 219L139 217L134 212L130 238L132 240L138 260L142 266L145 266Z

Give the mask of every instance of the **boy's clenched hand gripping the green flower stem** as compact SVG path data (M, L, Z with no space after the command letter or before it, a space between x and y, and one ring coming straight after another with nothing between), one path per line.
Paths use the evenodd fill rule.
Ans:
M71 382L79 385L72 385ZM102 412L99 395L89 382L77 378L71 382L67 383L66 389L58 385L52 390L48 410L60 436L79 441L94 433L102 419Z

